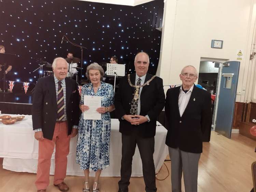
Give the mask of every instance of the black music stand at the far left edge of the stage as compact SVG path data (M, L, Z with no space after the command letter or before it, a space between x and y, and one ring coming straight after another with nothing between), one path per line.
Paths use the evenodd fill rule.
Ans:
M1 93L8 93L5 92L5 70L7 69L8 65L13 65L12 63L15 63L16 54L10 54L10 53L0 53L0 64L2 65L2 71L3 72L3 92ZM8 64L7 64L8 63Z

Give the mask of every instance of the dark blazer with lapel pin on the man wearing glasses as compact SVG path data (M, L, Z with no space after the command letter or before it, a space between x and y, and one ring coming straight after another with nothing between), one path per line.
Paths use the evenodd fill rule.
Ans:
M180 117L180 86L168 89L165 102L167 126L166 145L180 150L201 153L202 134L211 129L211 94L194 85L187 107Z

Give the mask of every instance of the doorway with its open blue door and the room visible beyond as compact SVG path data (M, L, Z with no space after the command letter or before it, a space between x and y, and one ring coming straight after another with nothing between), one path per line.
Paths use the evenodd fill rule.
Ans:
M239 66L238 61L201 58L199 68L198 84L211 93L212 130L228 138L232 130Z

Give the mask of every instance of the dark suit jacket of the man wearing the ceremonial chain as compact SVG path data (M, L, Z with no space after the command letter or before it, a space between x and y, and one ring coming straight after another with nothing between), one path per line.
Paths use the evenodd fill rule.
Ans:
M151 79L152 75L146 74L145 82ZM135 73L130 75L131 84L135 83ZM144 83L145 83L144 82ZM155 77L149 85L142 88L140 96L140 115L148 115L150 122L140 125L131 125L126 120L122 120L124 115L130 115L131 101L134 88L128 83L127 76L124 76L119 83L119 89L115 95L115 110L120 121L119 131L126 135L131 135L135 129L139 130L139 136L143 138L153 137L156 134L156 119L165 105L165 93L163 91L163 81L160 77Z

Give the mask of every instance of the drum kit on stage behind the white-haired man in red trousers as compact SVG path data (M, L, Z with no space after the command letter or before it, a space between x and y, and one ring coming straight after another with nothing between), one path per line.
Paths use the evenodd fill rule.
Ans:
M65 58L65 60L69 63L69 67L71 67L73 69L76 69L76 70L82 70L83 69L81 67L72 67L73 63L79 63L81 61L79 58L70 57L70 58ZM35 69L33 72L35 72L36 70L39 69L40 70L39 78L47 77L47 76L52 76L53 75L53 71L46 71L46 70L44 70L44 72L42 73L43 66L46 67L46 68L52 68L52 64L51 63L48 63L48 62L43 61L41 59L37 59L36 62L40 64L40 67ZM67 73L67 77L73 78L74 74L72 73L72 70L69 70L69 71L70 72ZM76 75L76 82L77 82L77 75Z

